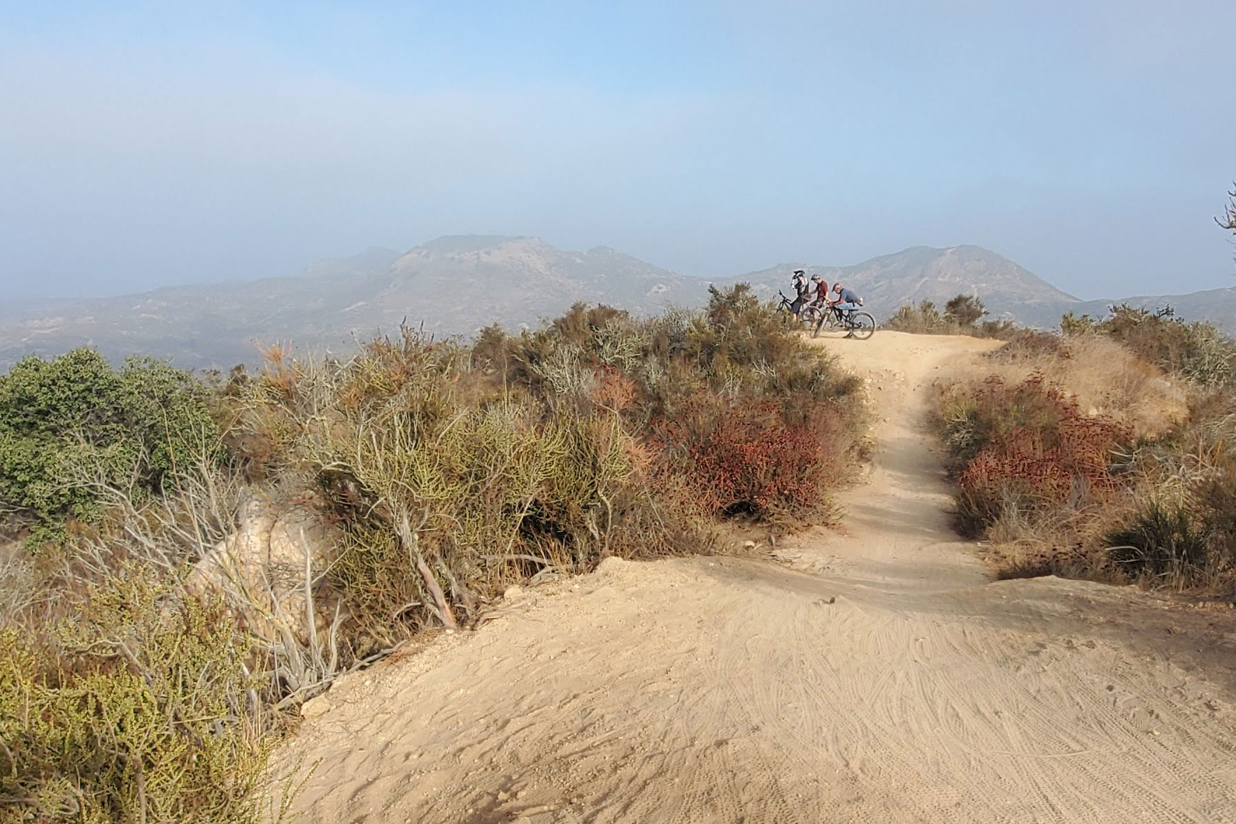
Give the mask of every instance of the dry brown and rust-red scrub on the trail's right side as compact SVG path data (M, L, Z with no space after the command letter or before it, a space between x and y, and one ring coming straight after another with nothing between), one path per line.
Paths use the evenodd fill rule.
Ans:
M1188 332L1140 319L1149 340ZM939 392L962 529L993 544L1002 576L1232 592L1236 394L1164 376L1116 335L1069 331L1021 335L988 355L984 380Z

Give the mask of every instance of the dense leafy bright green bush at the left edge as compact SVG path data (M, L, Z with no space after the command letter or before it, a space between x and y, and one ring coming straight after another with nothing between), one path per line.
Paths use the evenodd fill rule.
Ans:
M91 482L154 494L218 441L208 390L184 371L148 358L115 369L89 348L31 356L0 376L0 508L44 529L88 519Z

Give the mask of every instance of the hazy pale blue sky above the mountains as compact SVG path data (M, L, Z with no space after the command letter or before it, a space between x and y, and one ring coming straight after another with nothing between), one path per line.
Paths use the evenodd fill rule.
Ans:
M0 0L0 299L446 233L1236 285L1232 0Z

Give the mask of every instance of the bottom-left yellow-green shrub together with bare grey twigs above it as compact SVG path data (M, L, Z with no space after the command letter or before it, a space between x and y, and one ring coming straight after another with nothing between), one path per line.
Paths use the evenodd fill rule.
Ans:
M0 820L256 820L287 656L246 629L256 604L184 583L235 529L240 476L201 452L151 498L125 474L79 467L99 516L7 547Z

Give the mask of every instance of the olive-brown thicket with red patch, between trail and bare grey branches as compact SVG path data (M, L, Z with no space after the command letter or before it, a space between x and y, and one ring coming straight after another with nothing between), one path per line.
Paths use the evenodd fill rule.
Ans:
M717 515L818 514L864 415L857 380L744 287L646 321L581 304L470 348L403 330L281 362L235 406L234 442L262 446L243 457L310 478L344 530L341 666L517 581L711 550Z

